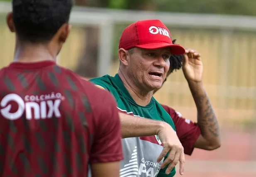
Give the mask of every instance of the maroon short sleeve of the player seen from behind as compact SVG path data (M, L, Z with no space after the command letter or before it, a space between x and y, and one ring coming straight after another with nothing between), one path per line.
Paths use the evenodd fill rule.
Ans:
M103 92L103 91L102 91ZM106 163L123 159L121 143L121 123L117 105L110 93L104 92L93 109L97 125L90 156L90 163Z

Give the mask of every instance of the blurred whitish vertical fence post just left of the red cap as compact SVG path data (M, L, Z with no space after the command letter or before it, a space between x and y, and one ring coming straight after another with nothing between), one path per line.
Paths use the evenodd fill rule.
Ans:
M113 23L106 20L99 25L99 51L97 63L97 76L109 74L112 60Z

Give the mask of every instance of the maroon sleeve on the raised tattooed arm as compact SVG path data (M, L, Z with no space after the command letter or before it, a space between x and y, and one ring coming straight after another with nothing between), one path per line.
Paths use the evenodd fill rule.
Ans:
M201 134L198 124L183 118L179 112L175 111L169 106L162 106L173 119L177 136L184 147L185 154L191 155L194 150L193 145Z

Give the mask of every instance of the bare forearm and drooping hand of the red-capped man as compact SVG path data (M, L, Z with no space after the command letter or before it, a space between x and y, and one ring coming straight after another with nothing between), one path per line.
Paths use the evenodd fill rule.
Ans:
M163 151L157 161L160 162L169 153L161 168L168 166L166 169L166 175L168 175L180 161L180 175L183 175L185 165L184 149L176 132L168 123L135 117L126 113L119 113L119 118L123 138L158 135L163 144Z

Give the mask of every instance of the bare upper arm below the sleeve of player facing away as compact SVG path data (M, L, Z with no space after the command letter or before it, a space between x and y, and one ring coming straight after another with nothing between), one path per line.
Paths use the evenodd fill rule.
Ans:
M120 163L93 163L91 165L92 177L119 177Z

